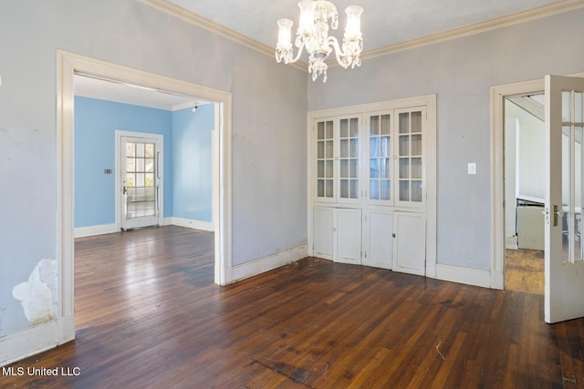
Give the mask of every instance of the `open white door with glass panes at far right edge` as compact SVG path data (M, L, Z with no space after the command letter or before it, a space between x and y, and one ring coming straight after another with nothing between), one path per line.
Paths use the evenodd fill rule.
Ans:
M584 78L546 77L546 322L584 316Z

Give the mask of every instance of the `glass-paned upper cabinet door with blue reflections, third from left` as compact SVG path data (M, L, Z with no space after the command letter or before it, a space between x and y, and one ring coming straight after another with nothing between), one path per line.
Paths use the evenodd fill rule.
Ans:
M390 205L391 114L369 116L369 199Z

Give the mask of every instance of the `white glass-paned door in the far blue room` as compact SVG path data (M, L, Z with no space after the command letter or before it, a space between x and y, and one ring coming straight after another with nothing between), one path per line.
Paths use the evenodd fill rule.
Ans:
M161 217L162 137L120 137L121 229L157 226Z

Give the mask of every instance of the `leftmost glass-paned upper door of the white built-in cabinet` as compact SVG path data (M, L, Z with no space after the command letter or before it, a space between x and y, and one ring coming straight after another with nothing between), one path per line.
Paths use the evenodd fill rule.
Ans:
M317 122L317 197L332 200L334 193L333 121Z

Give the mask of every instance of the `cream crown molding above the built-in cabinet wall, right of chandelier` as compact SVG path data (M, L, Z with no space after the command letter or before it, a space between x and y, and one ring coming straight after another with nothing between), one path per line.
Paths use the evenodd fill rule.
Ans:
M392 53L410 50L420 46L433 45L463 36L472 36L474 34L484 33L486 31L495 30L501 27L518 25L530 20L541 19L547 16L561 14L563 12L572 11L582 7L584 7L584 0L560 0L556 3L541 5L526 11L516 12L515 14L496 17L495 19L490 19L485 22L453 28L451 30L433 34L432 36L422 36L420 38L401 42L395 45L366 50L361 54L361 60L370 59L377 56L387 56ZM330 65L332 64L334 64L334 62L331 61Z

